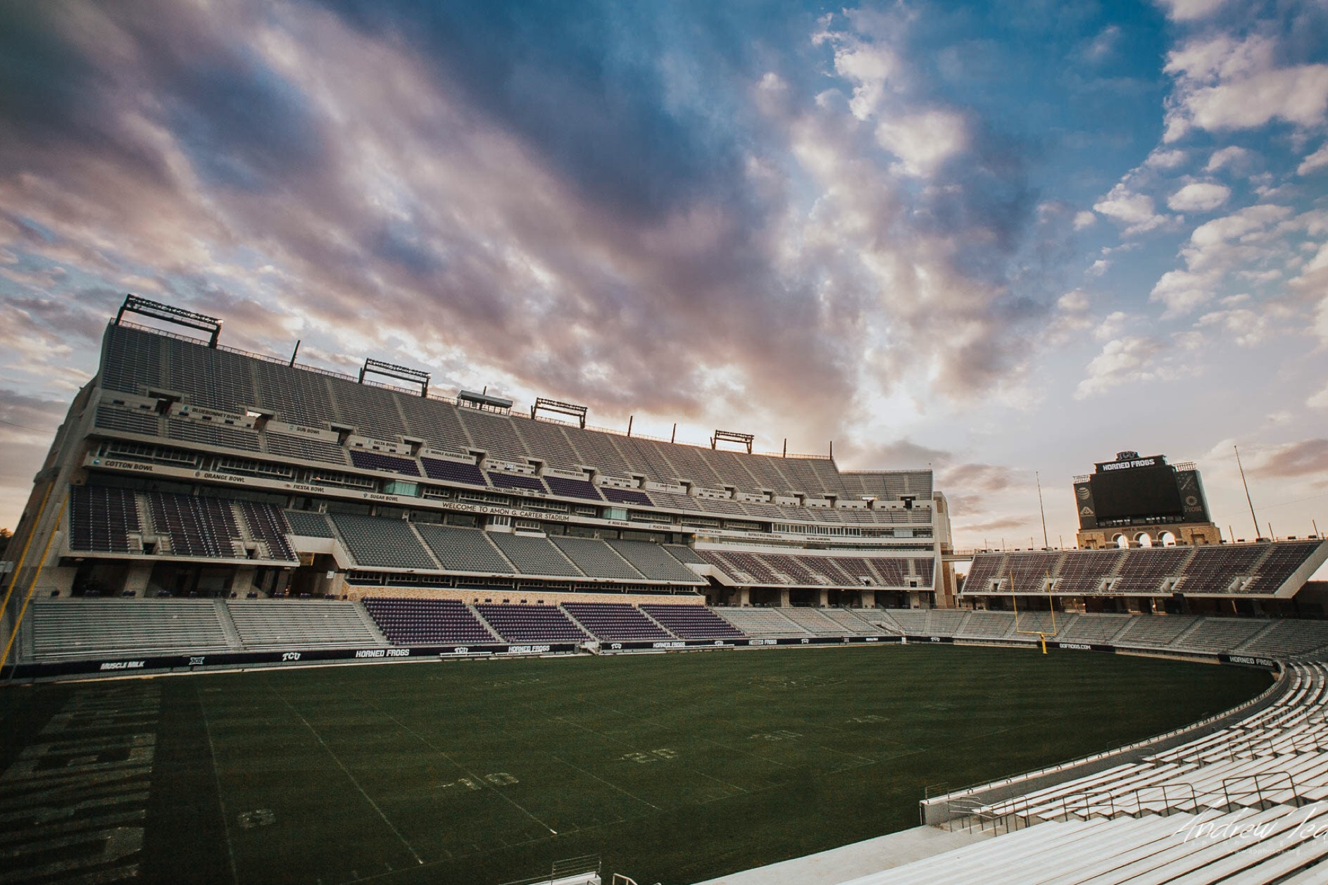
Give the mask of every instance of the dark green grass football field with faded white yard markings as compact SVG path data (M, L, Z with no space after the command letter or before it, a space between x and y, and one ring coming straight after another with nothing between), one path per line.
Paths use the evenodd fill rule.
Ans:
M16 686L0 868L487 885L599 853L606 873L689 884L916 825L928 784L1143 738L1268 680L855 646Z

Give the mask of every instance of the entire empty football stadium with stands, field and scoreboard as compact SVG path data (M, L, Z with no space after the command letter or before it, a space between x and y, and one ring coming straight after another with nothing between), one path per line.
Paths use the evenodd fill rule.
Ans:
M0 881L1323 881L1328 542L1194 465L961 551L931 470L222 330L127 296L35 477Z

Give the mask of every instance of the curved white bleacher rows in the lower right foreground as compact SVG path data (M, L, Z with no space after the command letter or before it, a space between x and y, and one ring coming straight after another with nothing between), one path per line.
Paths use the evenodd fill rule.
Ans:
M854 881L1321 882L1328 668L1292 663L1283 679L1271 704L1135 761L996 800L951 795L1017 832ZM1123 835L1094 836L1108 829Z

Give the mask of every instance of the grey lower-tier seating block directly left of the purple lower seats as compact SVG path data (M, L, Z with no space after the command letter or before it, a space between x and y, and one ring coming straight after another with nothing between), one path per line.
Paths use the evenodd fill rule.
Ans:
M355 602L230 599L226 607L246 648L372 648L382 646Z

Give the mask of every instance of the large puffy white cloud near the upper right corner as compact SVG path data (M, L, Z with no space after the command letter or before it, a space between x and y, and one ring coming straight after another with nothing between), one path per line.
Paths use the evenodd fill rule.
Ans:
M1274 120L1301 128L1324 122L1328 65L1278 66L1278 41L1219 33L1194 37L1167 54L1163 70L1175 80L1163 141L1191 129L1254 129Z

